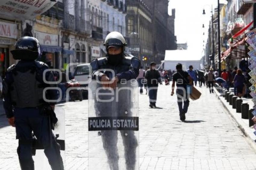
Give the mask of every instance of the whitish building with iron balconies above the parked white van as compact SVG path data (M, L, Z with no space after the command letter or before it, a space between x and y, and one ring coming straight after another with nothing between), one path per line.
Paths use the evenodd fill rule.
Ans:
M73 72L77 64L89 62L86 38L91 36L91 24L86 21L86 0L64 0L64 20L61 29L62 68Z

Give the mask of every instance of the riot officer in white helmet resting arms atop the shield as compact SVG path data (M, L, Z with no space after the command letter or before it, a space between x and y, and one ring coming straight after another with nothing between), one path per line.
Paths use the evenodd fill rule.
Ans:
M106 89L115 89L122 80L128 81L136 79L139 75L140 60L136 57L126 56L124 53L126 42L123 35L119 32L109 33L105 39L104 45L106 47L107 57L98 58L91 62L93 71L92 80L104 82L101 86ZM104 103L95 100L95 113L98 114L98 117L111 116L113 113L117 114L117 116L122 116L124 112L128 113L129 116L132 107L132 105L129 104L131 98L126 96L130 95L132 94L124 90L122 94L119 94L120 99L118 102ZM105 96L105 99L107 98L108 96ZM113 109L114 105L116 105L116 110ZM120 130L120 133L123 139L126 169L134 170L138 141L133 131ZM103 147L108 156L110 169L118 170L117 130L102 130L101 138Z

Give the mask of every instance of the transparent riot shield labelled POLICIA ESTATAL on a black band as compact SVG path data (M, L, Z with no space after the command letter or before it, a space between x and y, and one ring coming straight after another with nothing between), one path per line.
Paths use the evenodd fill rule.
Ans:
M139 169L139 96L136 80L116 89L89 83L89 170Z

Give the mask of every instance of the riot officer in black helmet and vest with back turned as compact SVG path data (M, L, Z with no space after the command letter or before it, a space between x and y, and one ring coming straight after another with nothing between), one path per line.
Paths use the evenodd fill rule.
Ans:
M45 87L56 87L44 81L43 72L48 66L35 61L39 54L39 42L33 37L22 37L11 51L13 58L20 60L8 68L3 80L4 108L11 126L16 128L16 138L19 140L17 153L22 170L33 170L32 131L44 147L44 153L54 170L64 169L60 155L60 147L50 128L49 115L45 106L54 108L55 103L45 102L43 91ZM54 82L52 72L46 71L45 80ZM46 90L45 98L56 100L57 90ZM52 124L52 123L51 123Z

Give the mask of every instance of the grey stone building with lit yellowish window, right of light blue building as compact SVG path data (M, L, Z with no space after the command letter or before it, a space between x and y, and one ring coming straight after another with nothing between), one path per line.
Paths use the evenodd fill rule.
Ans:
M126 32L130 40L127 48L145 66L150 60L154 60L152 13L142 1L126 0L126 4Z

